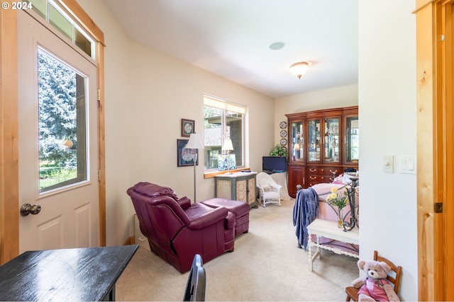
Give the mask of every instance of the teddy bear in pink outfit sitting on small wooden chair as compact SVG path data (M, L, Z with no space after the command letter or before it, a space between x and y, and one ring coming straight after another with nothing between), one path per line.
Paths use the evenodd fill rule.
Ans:
M396 292L386 279L391 267L386 262L359 260L358 267L367 277L352 282L358 291L358 301L400 301Z

